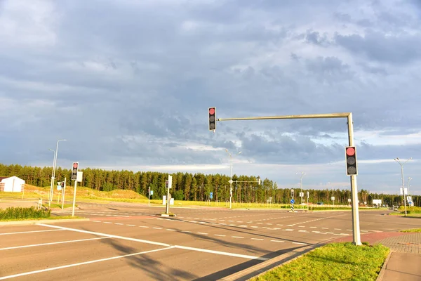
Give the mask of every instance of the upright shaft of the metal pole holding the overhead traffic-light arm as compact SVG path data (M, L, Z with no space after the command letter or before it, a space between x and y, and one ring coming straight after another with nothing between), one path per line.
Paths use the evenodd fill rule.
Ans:
M352 113L348 117L348 138L349 146L354 146L354 124L352 122ZM351 177L351 190L352 190L352 237L353 243L361 245L361 233L359 228L359 211L358 211L358 190L356 187L356 176Z

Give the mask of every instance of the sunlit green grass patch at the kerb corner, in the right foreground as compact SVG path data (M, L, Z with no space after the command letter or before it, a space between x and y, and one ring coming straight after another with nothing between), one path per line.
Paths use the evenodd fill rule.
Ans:
M376 280L387 254L380 244L327 244L251 280Z

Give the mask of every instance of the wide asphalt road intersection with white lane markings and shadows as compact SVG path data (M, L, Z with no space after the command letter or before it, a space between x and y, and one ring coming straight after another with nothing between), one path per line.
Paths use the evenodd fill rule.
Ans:
M218 280L293 249L352 235L350 211L79 204L90 221L0 226L0 280ZM67 216L71 210L55 211ZM360 211L361 233L419 220Z

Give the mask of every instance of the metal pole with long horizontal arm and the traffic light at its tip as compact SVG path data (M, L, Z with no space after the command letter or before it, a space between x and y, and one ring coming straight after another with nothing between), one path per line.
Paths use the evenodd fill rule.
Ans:
M213 131L216 128L215 123L215 107L209 107L209 130ZM319 118L347 118L348 121L348 140L349 146L354 145L354 126L352 124L352 113L326 113L314 115L282 115L282 116L267 116L267 117L243 117L243 118L218 118L217 121L234 121L234 120L270 120L270 119L319 119ZM359 211L358 211L358 190L356 186L356 175L351 176L351 190L352 190L352 234L353 243L361 245L361 234L359 228Z

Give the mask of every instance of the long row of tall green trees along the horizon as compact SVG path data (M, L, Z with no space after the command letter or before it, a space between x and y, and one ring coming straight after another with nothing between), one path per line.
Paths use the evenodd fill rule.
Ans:
M165 182L168 174L150 171L107 171L102 169L82 169L83 181L81 186L95 190L114 190L125 189L133 190L141 195L147 196L147 190L150 187L154 190L152 199L160 199L166 195ZM44 166L20 166L18 164L4 165L0 164L0 176L18 176L29 185L40 187L49 186L51 183L52 167ZM201 173L174 173L173 188L171 194L175 200L194 200L204 201L210 199L210 192L213 192L213 200L224 202L229 200L229 176L221 174L205 175ZM58 167L55 172L56 181L67 180L71 176L70 169ZM268 202L272 197L272 203L288 203L291 198L289 188L278 188L276 183L265 178L261 185L258 185L256 176L236 176L232 177L233 200L234 202ZM67 181L69 182L69 181ZM298 191L295 191L295 201L301 203L298 197ZM335 204L349 204L349 190L314 190L307 189L303 202L307 202L307 191L309 192L309 202L332 204L330 197L335 197ZM371 193L368 190L359 190L359 200L361 204L367 202L371 204L373 199L381 199L383 204L397 205L401 204L402 197L398 195L384 195ZM413 196L415 206L421 205L421 196Z

